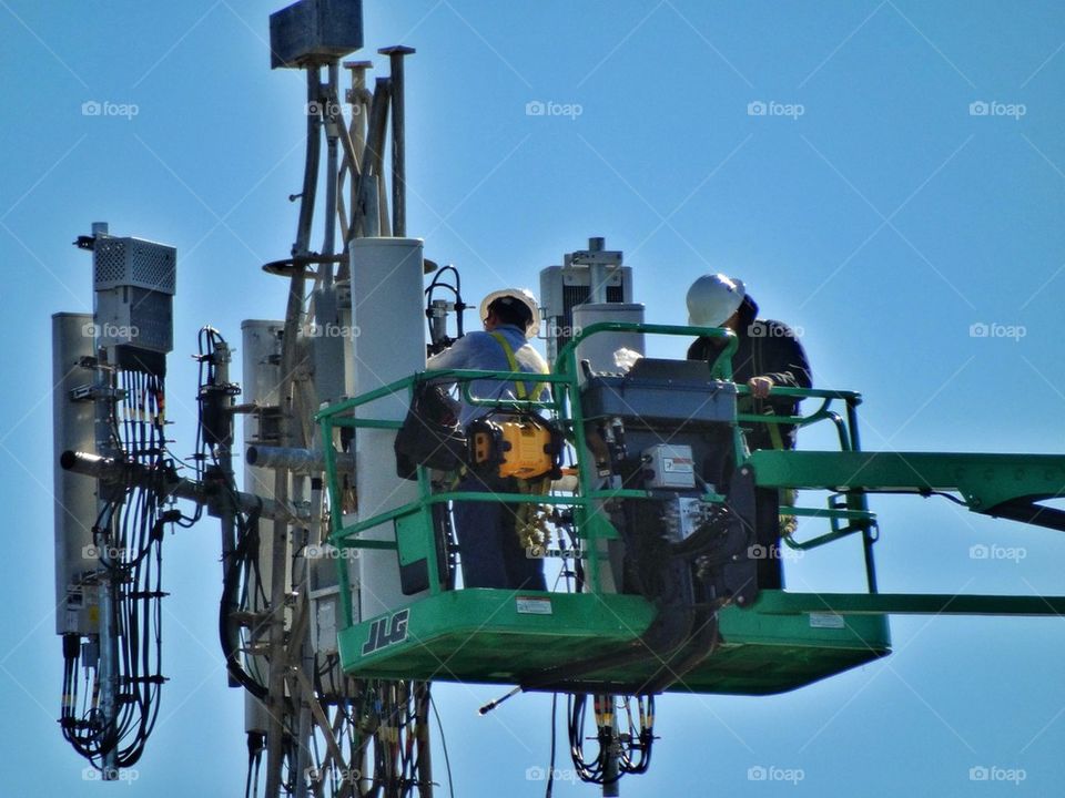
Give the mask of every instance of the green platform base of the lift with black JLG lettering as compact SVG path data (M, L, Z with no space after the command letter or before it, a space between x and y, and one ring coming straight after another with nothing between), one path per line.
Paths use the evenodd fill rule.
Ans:
M763 592L749 610L722 610L717 652L669 690L781 693L890 653L886 616L760 613L759 604L773 593ZM559 664L642 647L637 638L653 614L635 595L459 590L345 630L341 658L359 678L517 685ZM613 692L641 685L662 665L655 653L643 654L588 673L580 683L612 685Z

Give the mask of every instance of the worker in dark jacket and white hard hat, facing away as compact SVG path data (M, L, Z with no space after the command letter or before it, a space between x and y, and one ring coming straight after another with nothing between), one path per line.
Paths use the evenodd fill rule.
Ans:
M732 330L738 348L732 356L732 379L747 385L741 397L742 413L797 416L801 400L773 396L773 388L810 388L810 365L794 330L782 321L758 318L758 304L741 280L723 274L703 275L688 289L688 324L693 327L723 327ZM723 338L701 336L688 349L689 360L713 361L726 346ZM747 447L794 449L795 427L780 423L746 424ZM785 502L790 503L790 497ZM757 530L759 551L768 553L758 563L761 587L780 587L779 560L781 497L774 489L758 489Z

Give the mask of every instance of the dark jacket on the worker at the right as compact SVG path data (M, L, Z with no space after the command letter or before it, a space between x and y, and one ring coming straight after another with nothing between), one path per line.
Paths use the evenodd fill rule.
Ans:
M749 296L743 298L740 306L737 337L739 348L732 356L732 379L737 385L746 383L751 377L769 377L774 386L812 387L807 354L792 329L781 321L758 318L758 304ZM688 359L713 360L723 346L721 339L697 338L688 349ZM769 399L743 397L739 410L759 415L773 412L778 416L797 416L800 401L790 397L774 398L772 395ZM773 448L769 427L770 424L744 424L747 444L751 451ZM791 424L779 424L778 428L783 447L794 449L795 428Z

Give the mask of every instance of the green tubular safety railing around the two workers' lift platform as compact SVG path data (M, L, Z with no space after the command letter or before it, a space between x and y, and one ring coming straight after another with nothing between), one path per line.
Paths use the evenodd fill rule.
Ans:
M362 393L353 399L333 405L320 411L315 419L322 431L323 449L325 452L325 467L327 477L327 490L331 507L331 533L329 543L337 549L385 549L397 550L399 548L397 538L393 540L371 540L363 536L363 533L382 526L386 523L405 523L407 520L416 520L418 531L415 533L419 540L413 541L412 548L424 552L427 561L429 592L437 594L442 592L443 586L439 579L439 561L437 556L437 546L434 535L436 534L432 508L435 504L442 504L449 501L497 501L510 504L535 503L554 504L572 509L575 529L581 539L581 557L587 560L586 573L589 574L588 587L592 593L601 591L600 566L605 559L605 552L600 551L600 541L618 538L617 530L607 518L600 512L601 502L610 499L651 499L652 492L639 489L601 489L598 487L598 475L595 473L595 467L591 458L588 457L587 439L585 434L585 418L579 400L580 378L577 362L577 348L581 341L588 337L601 332L642 332L648 335L666 336L704 336L722 338L726 345L721 352L710 364L710 376L713 379L726 381L732 380L732 356L738 347L738 339L733 332L722 328L691 327L691 326L671 326L671 325L647 325L629 323L600 323L584 328L578 335L569 340L559 351L555 364L555 372L550 375L530 375L525 371L488 371L477 369L447 369L437 371L422 371L409 377L396 380L382 386L366 393ZM515 381L534 381L550 386L550 398L547 400L511 399L511 398L485 398L475 397L470 393L470 383L475 380L491 380L500 383ZM568 440L576 451L578 489L574 495L550 495L550 494L526 494L526 493L496 493L496 492L474 492L474 491L436 491L434 492L429 483L428 470L417 469L418 498L400 507L389 509L385 512L373 515L372 518L361 520L354 524L344 524L343 520L343 497L341 487L341 475L336 468L336 453L334 448L334 432L337 428L348 429L399 429L402 421L394 419L372 418L369 415L361 413L361 410L369 409L374 402L394 397L399 393L406 393L408 399L413 396L415 387L419 382L433 381L445 383L458 383L463 399L470 405L496 408L499 410L525 410L540 411L550 413L562 427ZM738 386L738 393L743 396L749 390L746 386ZM742 464L748 460L748 452L741 430L741 423L777 423L795 424L807 427L812 423L829 421L836 428L841 449L844 451L859 450L859 437L856 428L856 406L861 402L861 397L851 391L818 390L818 389L781 389L773 388L773 396L785 396L795 398L821 399L820 407L805 416L761 416L751 413L738 413L732 427L732 446L736 462ZM840 413L831 409L834 401L843 401L846 406L845 420ZM708 493L703 497L704 501L720 503L723 497ZM873 577L872 551L871 544L873 538L871 530L875 528L874 515L869 512L864 494L860 491L849 492L845 497L843 507L828 508L785 508L783 513L793 515L805 515L815 518L826 518L832 525L826 535L822 535L812 541L800 543L798 541L785 539L789 545L799 549L809 549L816 545L838 540L854 532L863 532L866 536L866 571L870 577L870 590L875 590ZM840 525L840 522L846 522ZM354 623L352 607L351 582L347 572L347 565L344 557L338 559L339 587L342 596L342 606L344 618L347 626Z

